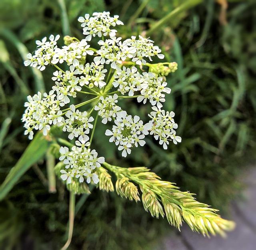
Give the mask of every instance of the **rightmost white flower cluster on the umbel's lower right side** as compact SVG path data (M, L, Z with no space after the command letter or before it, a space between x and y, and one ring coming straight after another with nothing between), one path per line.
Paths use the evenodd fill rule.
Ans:
M152 111L149 117L152 118L152 129L150 131L150 135L154 135L156 140L159 139L159 144L163 145L164 149L167 149L167 145L169 145L169 141L173 141L174 144L177 142L181 142L181 137L176 136L176 131L174 129L178 128L178 124L174 122L173 111L164 111L158 109L157 107L152 107L154 111Z

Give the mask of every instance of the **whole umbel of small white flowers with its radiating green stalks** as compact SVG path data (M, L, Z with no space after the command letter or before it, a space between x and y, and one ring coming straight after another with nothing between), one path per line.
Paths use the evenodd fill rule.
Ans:
M58 48L60 36L51 35L49 41L46 38L36 41L36 51L33 55L28 54L24 65L41 71L53 65L57 70L53 73L54 85L49 93L28 96L22 121L29 139L33 138L34 130L42 130L47 135L50 125L62 127L68 132L69 139L76 138L72 151L67 147L60 148L60 160L66 165L66 170L61 170L61 178L68 183L73 178L88 183L92 179L98 183L94 170L104 162L104 157L97 158L96 151L90 150L98 117L104 124L113 123L112 129L106 129L105 134L122 151L123 157L130 154L133 147L144 146L148 134L159 140L164 149L171 141L174 144L181 142L176 136L178 125L174 122L174 112L162 110L165 95L171 92L163 76L175 71L177 64L148 63L153 56L164 58L158 46L142 36L122 41L114 28L123 23L118 16L111 17L109 12L94 13L91 17L86 14L78 21L82 23L85 35L81 41L69 37L70 42L65 43L68 45ZM91 48L88 42L97 37L99 48ZM61 69L58 65L62 63L69 69ZM145 66L148 72L142 70ZM112 88L114 91L110 92ZM64 107L70 103L70 98L76 98L77 93L92 98ZM149 101L153 109L148 114L150 121L144 124L138 115L128 115L117 105L120 98L135 98L144 104ZM90 111L79 111L79 107L93 102L95 105ZM94 110L97 111L95 118L91 115Z

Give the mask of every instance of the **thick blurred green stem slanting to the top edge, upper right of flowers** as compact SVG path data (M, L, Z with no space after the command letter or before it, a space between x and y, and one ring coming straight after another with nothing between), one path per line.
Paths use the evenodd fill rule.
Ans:
M162 19L160 19L158 22L156 22L147 32L146 36L150 36L155 30L159 29L162 25L164 25L166 22L168 22L170 19L174 18L180 12L183 12L185 10L188 10L189 8L192 8L193 6L196 6L197 4L200 4L202 0L188 0L178 6L176 9L174 9L172 12L164 16Z

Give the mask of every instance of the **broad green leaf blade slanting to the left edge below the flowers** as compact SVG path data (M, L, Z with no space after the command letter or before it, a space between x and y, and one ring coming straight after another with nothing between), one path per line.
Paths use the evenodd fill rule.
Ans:
M37 133L0 186L0 200L4 199L29 168L44 156L47 149L48 141L46 141L42 133Z

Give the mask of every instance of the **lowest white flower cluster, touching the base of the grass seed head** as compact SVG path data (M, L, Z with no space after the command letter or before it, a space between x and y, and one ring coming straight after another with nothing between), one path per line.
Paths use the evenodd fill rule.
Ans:
M96 167L100 167L104 163L104 157L97 157L98 153L90 148L89 142L84 140L76 141L76 146L72 147L69 152L68 147L60 147L60 160L66 165L66 170L60 170L60 176L63 181L71 183L73 178L79 178L79 182L83 182L84 178L87 183L92 181L97 184L99 182L98 175L93 173Z

